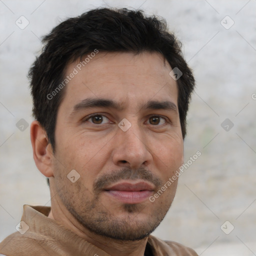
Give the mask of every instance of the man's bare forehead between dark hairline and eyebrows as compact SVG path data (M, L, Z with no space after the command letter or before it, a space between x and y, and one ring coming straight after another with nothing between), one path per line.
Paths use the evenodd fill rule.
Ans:
M88 55L66 67L65 77L72 76L61 102L66 110L92 97L113 99L124 108L148 100L171 100L177 104L177 84L169 75L172 68L160 53L98 52L90 58Z

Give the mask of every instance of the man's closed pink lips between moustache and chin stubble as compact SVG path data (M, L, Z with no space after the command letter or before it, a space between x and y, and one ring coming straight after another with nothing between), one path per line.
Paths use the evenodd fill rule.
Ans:
M122 181L104 189L104 192L122 203L140 203L154 191L154 185L146 181Z

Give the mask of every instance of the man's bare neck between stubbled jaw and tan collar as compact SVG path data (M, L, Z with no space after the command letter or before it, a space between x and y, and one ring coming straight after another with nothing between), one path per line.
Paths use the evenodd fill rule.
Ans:
M51 192L51 194L53 194ZM111 256L143 256L147 237L137 241L116 240L91 232L82 226L74 216L66 209L59 196L51 196L51 210L49 218L62 224L84 240L92 243L96 247L104 250Z

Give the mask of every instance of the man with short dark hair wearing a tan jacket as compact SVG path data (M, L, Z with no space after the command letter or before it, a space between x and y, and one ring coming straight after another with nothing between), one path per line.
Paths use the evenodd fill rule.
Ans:
M165 22L93 9L56 26L30 71L31 143L51 207L24 205L14 255L197 255L149 235L173 200L194 78ZM170 223L171 224L171 223Z

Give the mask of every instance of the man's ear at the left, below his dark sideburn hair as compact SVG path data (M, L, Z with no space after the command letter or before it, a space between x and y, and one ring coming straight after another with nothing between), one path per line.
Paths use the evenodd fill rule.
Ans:
M52 147L51 144L48 142L46 131L36 120L32 121L31 123L30 139L36 167L44 176L53 176Z

